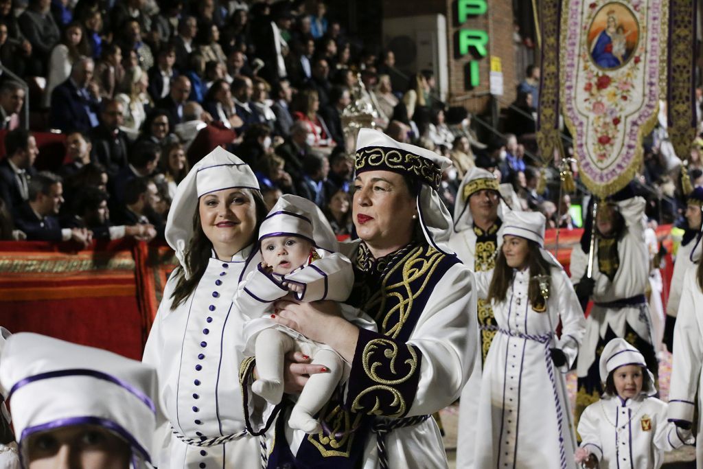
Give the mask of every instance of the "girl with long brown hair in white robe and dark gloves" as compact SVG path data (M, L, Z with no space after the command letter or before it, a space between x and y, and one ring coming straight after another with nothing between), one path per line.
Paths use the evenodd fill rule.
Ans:
M498 323L482 374L477 468L575 468L563 373L576 359L585 319L565 271L542 248L544 226L538 212L506 214L496 270L476 275Z

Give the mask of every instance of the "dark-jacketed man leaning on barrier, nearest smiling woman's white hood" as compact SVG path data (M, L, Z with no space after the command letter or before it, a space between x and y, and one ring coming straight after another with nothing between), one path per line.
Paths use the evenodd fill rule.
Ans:
M158 188L154 181L146 177L135 177L124 185L123 205L114 214L115 224L122 225L151 225L156 229L157 237L164 239L165 220L156 212L155 206L160 203Z

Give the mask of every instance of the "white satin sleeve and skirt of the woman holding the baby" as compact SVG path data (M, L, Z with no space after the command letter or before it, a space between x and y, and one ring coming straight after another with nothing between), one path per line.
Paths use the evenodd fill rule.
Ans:
M347 250L344 253L351 254L358 245L358 242L344 245ZM462 264L454 264L444 273L441 281L434 285L425 309L408 339L408 344L420 349L423 359L418 390L406 417L434 413L459 397L479 353L475 315L474 276ZM254 408L253 399L248 405L250 415L254 417L252 420L257 424L266 421ZM307 435L299 430L291 430L288 426L285 433L292 453L296 454L302 439ZM379 461L375 434L363 437L366 438L366 444L361 469L377 469ZM448 467L444 444L434 418L393 430L387 435L385 446L389 468Z

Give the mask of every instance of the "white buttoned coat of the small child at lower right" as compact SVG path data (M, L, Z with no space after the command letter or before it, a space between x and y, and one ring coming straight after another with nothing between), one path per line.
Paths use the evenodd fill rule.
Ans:
M626 401L604 397L586 407L579 435L581 447L595 454L600 469L659 469L664 451L684 444L666 421L666 403L643 394Z

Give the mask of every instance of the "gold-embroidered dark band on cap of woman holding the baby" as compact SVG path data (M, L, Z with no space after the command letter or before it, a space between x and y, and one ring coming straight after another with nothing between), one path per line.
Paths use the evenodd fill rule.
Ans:
M423 179L435 190L441 183L441 169L434 162L397 148L361 148L356 151L356 172L370 169L401 169L403 172Z

